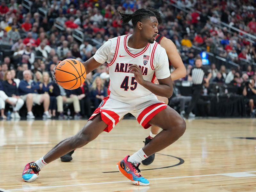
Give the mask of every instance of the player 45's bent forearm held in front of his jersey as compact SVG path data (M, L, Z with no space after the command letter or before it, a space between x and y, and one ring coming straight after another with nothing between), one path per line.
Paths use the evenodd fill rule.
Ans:
M168 86L164 84L154 84L154 83L151 83L150 81L144 81L141 85L156 95L167 97L167 98L170 98L172 96L172 91L173 91L172 86Z

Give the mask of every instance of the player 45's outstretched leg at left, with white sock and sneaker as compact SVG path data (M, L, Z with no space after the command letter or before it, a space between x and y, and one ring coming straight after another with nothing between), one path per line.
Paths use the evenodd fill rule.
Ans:
M26 164L22 178L27 182L36 180L38 172L48 163L63 156L69 151L80 148L94 140L105 128L105 124L101 120L100 114L96 115L92 120L80 130L75 136L67 138L52 148L45 156L38 159L36 162Z

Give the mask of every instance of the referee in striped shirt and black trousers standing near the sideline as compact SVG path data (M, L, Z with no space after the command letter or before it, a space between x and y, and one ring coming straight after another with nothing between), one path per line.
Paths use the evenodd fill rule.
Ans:
M202 66L202 58L200 56L196 57L195 65L196 67L191 69L190 76L192 76L192 99L185 111L185 117L188 118L189 113L195 108L197 101L200 98L201 92L203 91L203 83L209 83L212 74L208 72L206 68ZM205 78L205 76L207 76Z

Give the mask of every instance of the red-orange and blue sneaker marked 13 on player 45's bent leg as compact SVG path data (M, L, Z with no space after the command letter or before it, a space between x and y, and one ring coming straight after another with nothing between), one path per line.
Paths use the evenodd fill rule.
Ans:
M116 167L118 168L118 170L125 177L131 180L134 185L148 186L149 181L146 180L144 177L142 177L140 174L140 169L139 169L140 163L138 162L131 163L127 161L128 157L129 155L116 164Z

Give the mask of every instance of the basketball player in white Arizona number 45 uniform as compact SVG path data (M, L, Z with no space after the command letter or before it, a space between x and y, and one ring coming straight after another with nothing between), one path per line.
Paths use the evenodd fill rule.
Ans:
M158 33L155 13L138 9L132 14L120 14L123 23L132 20L133 34L108 40L92 58L83 63L86 73L108 63L108 96L75 136L61 141L36 162L26 164L23 180L36 180L38 172L46 164L75 148L83 147L102 131L110 132L125 114L131 113L145 129L152 124L163 129L150 143L132 156L127 155L116 165L133 184L147 186L149 181L140 174L140 162L171 145L185 132L183 118L155 96L169 98L173 88L167 54L155 42ZM155 76L159 84L152 83Z

